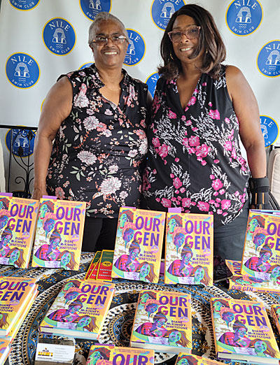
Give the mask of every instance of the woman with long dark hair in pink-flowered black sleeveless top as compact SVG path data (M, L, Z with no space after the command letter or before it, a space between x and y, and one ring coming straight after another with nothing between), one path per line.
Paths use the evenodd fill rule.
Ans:
M160 51L142 207L214 215L214 255L240 260L250 176L254 206L268 202L257 101L241 71L222 64L225 45L201 6L172 15Z

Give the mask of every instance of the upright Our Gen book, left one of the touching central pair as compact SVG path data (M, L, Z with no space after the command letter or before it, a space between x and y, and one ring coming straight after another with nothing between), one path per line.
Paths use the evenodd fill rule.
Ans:
M112 278L158 282L165 212L120 208Z

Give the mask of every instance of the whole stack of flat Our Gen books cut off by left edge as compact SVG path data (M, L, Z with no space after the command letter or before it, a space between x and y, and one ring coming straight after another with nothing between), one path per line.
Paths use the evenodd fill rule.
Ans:
M0 278L0 364L38 294L35 279Z

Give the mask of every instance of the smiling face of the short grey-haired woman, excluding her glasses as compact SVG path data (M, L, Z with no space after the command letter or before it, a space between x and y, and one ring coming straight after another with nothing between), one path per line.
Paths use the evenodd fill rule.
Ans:
M118 22L112 20L102 20L97 24L95 36L104 36L106 38L110 38L113 35L125 36L123 28ZM127 41L124 41L120 44L113 44L111 39L109 39L106 45L97 45L96 43L92 43L91 47L97 69L106 69L108 67L122 68L128 47Z

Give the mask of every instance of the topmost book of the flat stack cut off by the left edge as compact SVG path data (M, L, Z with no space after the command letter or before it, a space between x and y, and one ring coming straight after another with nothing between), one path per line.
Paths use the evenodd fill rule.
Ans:
M36 291L36 279L0 277L0 337L8 336Z

